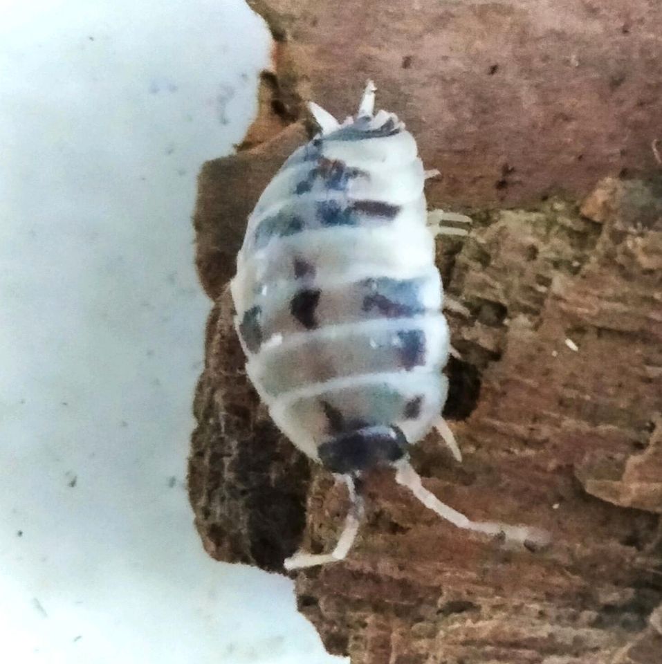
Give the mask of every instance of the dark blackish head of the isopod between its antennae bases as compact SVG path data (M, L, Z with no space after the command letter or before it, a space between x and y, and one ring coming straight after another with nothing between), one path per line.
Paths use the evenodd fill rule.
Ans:
M407 439L398 427L366 427L322 443L320 461L331 472L347 474L389 465L405 456Z

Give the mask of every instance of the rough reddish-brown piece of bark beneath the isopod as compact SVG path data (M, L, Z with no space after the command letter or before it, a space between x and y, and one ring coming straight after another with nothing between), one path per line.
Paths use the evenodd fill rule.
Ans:
M463 360L445 409L465 461L431 435L414 466L471 517L540 526L553 544L511 551L457 531L385 472L349 560L297 573L300 609L354 664L660 664L661 6L252 4L274 71L243 149L203 167L195 216L215 301L190 459L205 548L280 570L338 535L344 490L259 405L223 286L259 192L305 140L301 98L344 115L371 75L444 171L432 206L475 219L437 255L470 312L450 316Z

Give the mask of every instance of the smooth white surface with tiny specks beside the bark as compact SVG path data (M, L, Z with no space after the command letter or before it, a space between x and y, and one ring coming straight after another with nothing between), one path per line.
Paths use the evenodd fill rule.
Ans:
M239 0L0 5L0 660L338 662L184 490L190 214L268 54Z

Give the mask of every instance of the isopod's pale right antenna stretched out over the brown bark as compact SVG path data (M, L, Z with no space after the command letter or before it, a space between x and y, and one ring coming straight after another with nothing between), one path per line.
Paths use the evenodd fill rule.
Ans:
M430 508L442 519L450 521L454 526L467 531L503 537L505 540L522 544L527 548L540 548L549 544L549 535L538 528L509 526L497 522L471 521L461 512L442 503L431 491L428 491L409 461L401 459L401 461L394 463L394 466L396 468L396 482L406 486L425 507Z

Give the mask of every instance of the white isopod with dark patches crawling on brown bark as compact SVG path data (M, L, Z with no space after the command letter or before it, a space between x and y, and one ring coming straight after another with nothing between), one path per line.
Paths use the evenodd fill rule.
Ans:
M355 118L316 104L322 131L297 149L248 219L232 279L246 372L277 426L342 477L351 508L329 554L297 553L287 569L342 560L363 513L362 477L389 465L396 480L459 528L540 542L525 526L472 522L423 487L409 445L433 427L459 459L441 418L450 352L416 142L394 113L374 113L368 82ZM434 172L436 174L436 172ZM267 288L268 286L268 288Z

